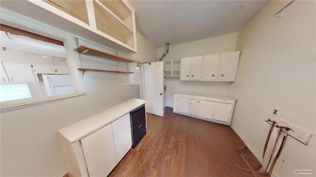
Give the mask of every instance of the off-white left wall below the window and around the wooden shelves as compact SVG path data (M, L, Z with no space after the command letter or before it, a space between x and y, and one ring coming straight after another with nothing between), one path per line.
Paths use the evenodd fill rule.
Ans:
M153 50L143 37L138 43L139 52L135 59L155 61L156 49ZM87 55L80 59L80 63L81 67L98 69L117 67L116 62ZM140 98L139 85L118 82L115 73L87 71L81 84L87 93L84 96L0 114L0 176L57 176L67 169L57 138L58 130L132 98Z

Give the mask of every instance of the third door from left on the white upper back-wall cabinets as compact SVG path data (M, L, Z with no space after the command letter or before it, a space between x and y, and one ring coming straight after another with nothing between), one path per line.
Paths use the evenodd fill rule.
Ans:
M221 54L205 55L203 61L202 80L216 80L218 61Z

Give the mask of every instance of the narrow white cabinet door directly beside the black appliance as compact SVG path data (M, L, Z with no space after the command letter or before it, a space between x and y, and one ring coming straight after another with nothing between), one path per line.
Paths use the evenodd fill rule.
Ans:
M119 162L132 146L132 134L129 113L112 123L113 138L117 162Z

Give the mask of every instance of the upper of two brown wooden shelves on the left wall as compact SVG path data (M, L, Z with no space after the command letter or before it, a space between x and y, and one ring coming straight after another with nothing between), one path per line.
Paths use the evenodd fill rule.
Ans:
M78 48L75 48L74 50L78 53L94 55L94 56L107 58L107 59L111 59L111 60L117 60L120 62L134 62L134 61L129 60L127 58L120 57L118 55L113 55L113 54L110 54L107 52L103 52L101 50L93 49L93 48L87 47L85 45L80 45Z

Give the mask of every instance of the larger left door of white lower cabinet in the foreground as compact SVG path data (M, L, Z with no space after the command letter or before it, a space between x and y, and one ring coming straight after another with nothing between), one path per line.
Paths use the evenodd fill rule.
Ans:
M80 140L90 177L106 177L117 165L112 126Z

